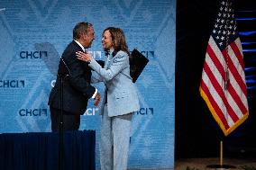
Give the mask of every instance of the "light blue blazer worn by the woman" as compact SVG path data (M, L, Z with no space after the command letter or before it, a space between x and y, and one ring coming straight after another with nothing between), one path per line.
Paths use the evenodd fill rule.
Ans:
M101 67L93 58L89 64L97 74L93 74L92 83L103 81L106 86L108 116L123 115L140 109L138 95L130 76L129 56L120 50L113 57L106 58L105 67ZM100 112L104 111L105 97Z

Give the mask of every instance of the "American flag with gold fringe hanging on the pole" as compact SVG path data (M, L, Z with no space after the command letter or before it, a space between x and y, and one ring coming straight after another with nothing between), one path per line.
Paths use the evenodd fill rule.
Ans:
M242 45L229 1L221 3L217 14L199 91L225 136L247 119Z

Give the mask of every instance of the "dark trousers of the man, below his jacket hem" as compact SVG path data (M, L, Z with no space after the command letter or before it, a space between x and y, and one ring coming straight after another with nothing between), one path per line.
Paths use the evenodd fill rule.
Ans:
M51 131L59 132L60 110L50 107ZM63 130L78 130L80 115L63 111Z

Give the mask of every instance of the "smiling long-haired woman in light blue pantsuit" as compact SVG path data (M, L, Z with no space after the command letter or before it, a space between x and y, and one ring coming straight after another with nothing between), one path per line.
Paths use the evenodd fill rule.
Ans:
M78 59L88 62L96 73L93 83L105 83L106 93L100 108L102 114L100 162L102 170L126 170L133 112L139 110L139 99L130 76L130 52L119 28L105 29L102 46L109 54L101 67L90 54L78 52Z

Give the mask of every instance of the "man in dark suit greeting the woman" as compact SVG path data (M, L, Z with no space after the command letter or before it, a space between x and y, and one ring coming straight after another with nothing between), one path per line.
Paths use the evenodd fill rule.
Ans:
M63 77L63 129L78 130L80 115L87 110L87 101L94 98L95 105L99 103L100 95L95 87L90 85L91 68L88 63L78 60L77 51L91 47L95 39L93 25L88 22L78 22L73 29L73 39L64 50L60 60L55 86L49 97L51 130L59 130L60 121L60 76Z

